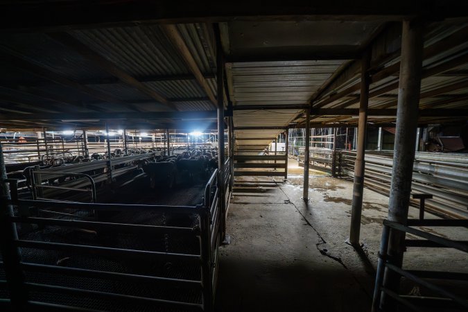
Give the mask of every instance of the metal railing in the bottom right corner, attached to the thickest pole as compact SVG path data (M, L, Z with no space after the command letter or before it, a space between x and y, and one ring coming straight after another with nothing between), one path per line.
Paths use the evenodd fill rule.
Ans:
M405 245L408 247L429 247L429 248L452 248L468 253L468 241L453 241L446 239L442 236L431 234L422 229L416 229L413 226L424 227L468 227L468 220L444 220L444 219L430 219L430 220L408 220L407 225L392 222L390 220L383 220L383 232L381 239L381 246L379 250L379 264L377 266L376 281L374 287L374 300L372 303L372 312L386 312L394 311L389 310L388 300L394 300L394 304L406 306L413 311L427 311L428 306L432 308L440 304L444 309L450 311L466 311L468 309L468 298L460 297L451 291L438 286L434 282L427 281L426 279L436 280L464 280L468 281L468 274L462 272L438 272L428 270L405 270L397 259L393 259L388 254L388 244L390 239L390 232L399 231L413 236L418 236L422 239L406 239ZM439 253L440 254L440 253ZM401 262L400 262L401 263ZM437 294L437 297L416 296L416 295L401 295L397 289L390 289L384 286L384 274L386 271L391 270L400 277L405 277L410 281L423 286ZM466 286L466 285L465 285ZM465 288L466 291L466 288ZM465 292L466 294L466 292ZM385 300L383 299L385 297ZM386 302L386 303L385 303ZM431 310L433 311L433 310ZM441 310L437 311L443 311Z

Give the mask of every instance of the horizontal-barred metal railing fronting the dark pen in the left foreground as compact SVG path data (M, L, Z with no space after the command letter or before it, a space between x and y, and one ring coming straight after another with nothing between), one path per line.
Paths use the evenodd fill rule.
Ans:
M5 231L1 233L3 234L1 240L2 243L5 243L6 248L2 248L0 269L4 268L9 274L5 280L0 281L0 293L1 288L6 288L10 293L10 297L2 298L0 306L6 306L7 309L13 311L49 311L49 309L59 311L81 311L80 309L100 311L92 306L92 303L89 303L96 300L96 302L99 302L96 306L101 307L118 302L128 306L141 304L146 309L151 306L166 306L173 309L183 309L184 311L212 311L218 272L217 250L220 244L222 216L217 179L218 171L214 171L205 187L204 204L198 206L114 205L19 200L16 193L16 180L14 182L10 181L11 198L3 196L0 205L2 210L0 228L2 230L14 230L10 234ZM51 218L44 218L43 214L37 215L37 211L46 209L58 211L59 215ZM98 216L119 213L134 216L151 213L163 218L165 218L164 216L185 216L186 218L191 216L196 221L193 223L194 226L169 226L165 223L163 225L132 223L128 218L123 218L119 222L112 221L113 219L105 220L101 217L94 220L82 220L79 217L70 218L71 215L69 214L64 214L66 218L60 218L60 211L68 209L89 211L90 214L96 211ZM17 227L17 225L20 226ZM28 232L21 232L24 228L27 228L24 227L25 225L28 228L34 227L39 231L49 227L74 229L78 232L91 233L94 235L94 239L85 243L76 243L72 236L65 235L60 236L58 241L37 239L37 236L28 236ZM125 239L133 243L130 243L130 245L116 245L116 243L113 243L115 241L114 236L121 235L124 235ZM109 241L105 239L96 241L99 236L110 236L112 239ZM57 236L51 237L57 238ZM166 250L153 248L153 244L157 246L157 237L166 240L166 245L168 244L168 237L175 237L192 243L193 240L197 240L198 251L174 252L167 250L167 247ZM31 261L31 257L29 257L31 254L25 257L25 254L31 253L31 250L37 250L37 259L52 254L55 255L55 258L53 258L55 260L52 262ZM63 259L60 261L65 261L65 265L57 261L57 254L62 254ZM70 254L78 254L78 257L81 257L79 259L84 259L80 261L86 262L87 259L90 259L90 263L103 261L103 263L119 263L119 266L107 267L107 265L101 264L90 267L74 266L76 264L74 261L67 260L72 258ZM36 258L33 257L33 259ZM67 261L71 262L67 263ZM135 266L130 266L131 263L134 263ZM161 269L155 268L157 263L162 266ZM171 267L175 263L182 263L182 268L189 266L200 272L199 278L187 279L177 277L179 275L162 276L152 273L158 272L158 270L164 272L166 266ZM127 265L129 265L129 268L126 267ZM150 270L144 270L144 272L141 271L143 269L139 270L139 268L144 268L145 265L149 265ZM33 279L31 277L33 273L39 274L40 279ZM90 282L97 280L98 284ZM69 281L70 283L73 281L73 283L67 284ZM101 286L96 288L90 285L101 285L103 288L108 285L109 287L102 290ZM122 285L125 285L126 288ZM133 291L135 289L128 287L129 285L134 285L135 289L139 289L141 292L135 293ZM119 289L119 291L114 291L114 289ZM174 294L179 295L181 293L185 294L182 290L187 289L187 296L195 299L183 300L180 299L179 295L164 297L164 294L157 297L157 295L149 291L150 289L164 289L165 291L175 289ZM197 295L198 293L200 295ZM54 295L52 297L50 295L41 297L40 294ZM59 294L64 296L57 296ZM71 303L55 302L54 299L51 299L60 297L69 297ZM87 302L91 306L83 302Z

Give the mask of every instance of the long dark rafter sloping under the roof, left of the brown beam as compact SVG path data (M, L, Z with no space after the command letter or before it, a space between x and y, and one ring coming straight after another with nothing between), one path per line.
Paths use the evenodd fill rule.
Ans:
M177 110L175 105L169 102L164 96L158 94L153 89L146 87L146 85L140 83L137 79L123 71L123 69L117 67L116 64L110 62L110 60L107 60L107 58L104 58L99 53L96 53L95 51L90 49L89 46L86 46L85 44L77 40L75 37L72 37L68 33L50 33L49 37L51 37L57 42L60 42L64 46L69 47L69 49L76 51L87 60L92 61L93 64L97 67L103 69L107 73L110 73L112 76L119 78L119 80L121 80L123 83L126 83L127 85L134 87L135 89L150 96L151 98L154 98L156 101L158 101L159 103L163 103L172 110Z

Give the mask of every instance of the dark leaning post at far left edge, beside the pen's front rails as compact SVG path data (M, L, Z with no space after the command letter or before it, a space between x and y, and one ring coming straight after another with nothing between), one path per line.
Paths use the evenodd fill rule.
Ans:
M5 159L3 159L3 148L0 143L0 250L3 259L8 291L12 311L27 311L26 304L28 293L24 285L24 272L21 270L21 253L15 247L13 241L18 239L15 223L8 218L13 216L13 208L8 203L11 199L10 189L6 182Z

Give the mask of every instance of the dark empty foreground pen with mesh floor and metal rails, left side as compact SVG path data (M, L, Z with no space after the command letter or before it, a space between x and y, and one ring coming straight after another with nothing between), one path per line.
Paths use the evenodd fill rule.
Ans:
M2 311L211 311L230 162L187 205L151 205L154 196L138 205L25 200L17 180L8 180Z

